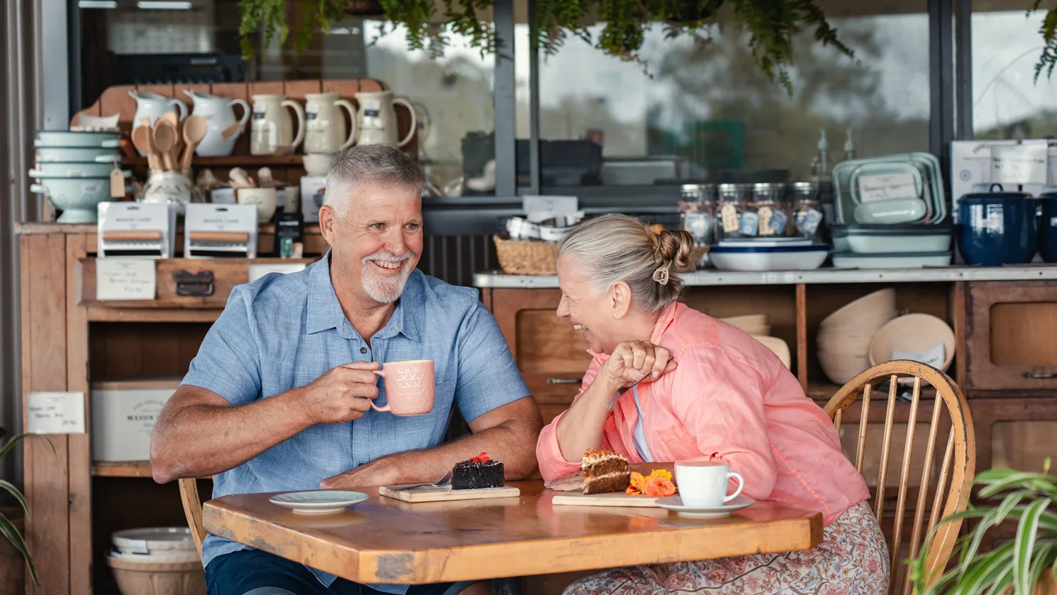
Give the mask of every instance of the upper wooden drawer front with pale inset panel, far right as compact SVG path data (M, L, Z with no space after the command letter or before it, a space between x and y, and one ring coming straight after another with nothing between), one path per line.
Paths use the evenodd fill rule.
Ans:
M1057 389L1057 284L972 282L967 296L965 388Z

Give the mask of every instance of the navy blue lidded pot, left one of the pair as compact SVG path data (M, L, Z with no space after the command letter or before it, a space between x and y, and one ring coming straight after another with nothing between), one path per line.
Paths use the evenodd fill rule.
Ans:
M965 194L958 201L958 249L968 264L1026 264L1038 249L1038 201L1023 192Z

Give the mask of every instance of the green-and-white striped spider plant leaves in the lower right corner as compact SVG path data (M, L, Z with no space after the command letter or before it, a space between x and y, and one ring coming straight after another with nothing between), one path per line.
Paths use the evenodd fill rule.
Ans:
M979 497L989 503L972 505L944 519L978 519L976 526L959 538L951 552L949 571L929 576L927 552L910 560L914 592L1034 595L1051 593L1057 578L1057 477L1050 475L1050 459L1041 473L1014 469L990 469L973 479ZM988 529L1003 521L1017 522L1014 539L989 552L981 552ZM933 534L935 532L933 531Z

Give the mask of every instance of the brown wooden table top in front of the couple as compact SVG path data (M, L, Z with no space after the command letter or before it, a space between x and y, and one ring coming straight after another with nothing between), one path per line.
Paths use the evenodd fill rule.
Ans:
M809 550L822 516L765 502L729 517L664 508L554 506L542 482L519 498L407 503L379 497L302 515L271 494L205 503L208 533L360 583L423 584Z

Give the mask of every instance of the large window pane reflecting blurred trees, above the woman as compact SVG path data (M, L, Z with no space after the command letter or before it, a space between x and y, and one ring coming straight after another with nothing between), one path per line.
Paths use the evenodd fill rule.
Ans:
M589 152L573 151L544 163L544 185L654 184L673 178L710 179L723 169L790 171L806 179L824 128L830 163L840 161L847 130L859 156L928 150L928 15L923 0L874 3L822 2L838 36L856 53L850 59L816 43L813 32L795 39L790 96L755 66L747 33L729 18L712 41L665 39L648 32L642 57L652 78L632 62L604 55L571 38L541 58L540 136L549 141L596 140L600 171L555 166ZM869 4L869 6L866 6ZM875 14L879 10L885 14ZM591 26L593 35L601 24ZM527 36L527 30L519 31ZM527 79L527 59L519 76ZM527 92L519 96L524 109ZM520 131L519 136L527 136ZM577 154L579 151L580 154ZM543 157L546 161L546 156Z

